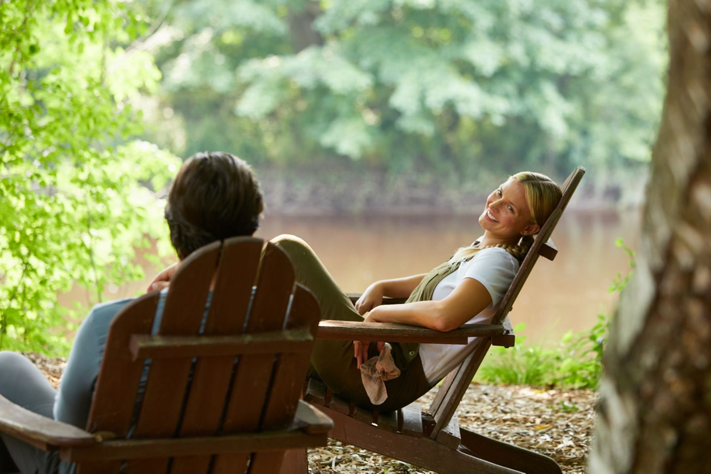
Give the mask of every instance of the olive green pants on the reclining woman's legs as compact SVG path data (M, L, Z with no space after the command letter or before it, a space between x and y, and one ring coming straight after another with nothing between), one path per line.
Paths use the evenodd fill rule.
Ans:
M306 286L316 297L321 309L321 319L338 321L363 321L363 316L346 294L333 281L314 250L299 237L279 235L271 241L292 260L296 281ZM408 364L399 343L392 345L392 357L400 369L400 377L385 382L387 400L383 404L370 403L363 388L358 362L355 360L352 340L316 340L311 354L311 373L316 374L338 397L367 409L392 411L402 408L422 396L431 388L422 372L419 355ZM378 355L375 343L370 345L370 357Z

